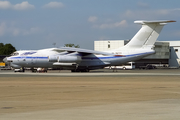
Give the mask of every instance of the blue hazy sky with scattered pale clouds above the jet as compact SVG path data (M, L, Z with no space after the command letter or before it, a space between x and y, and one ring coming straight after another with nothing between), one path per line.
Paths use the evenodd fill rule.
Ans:
M180 0L0 0L0 43L93 49L95 40L131 39L141 27L135 20L176 20L158 40L180 40Z

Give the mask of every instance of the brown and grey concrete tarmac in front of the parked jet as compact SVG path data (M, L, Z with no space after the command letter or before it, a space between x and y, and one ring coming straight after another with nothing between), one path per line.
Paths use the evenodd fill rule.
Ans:
M178 120L180 70L0 71L0 120Z

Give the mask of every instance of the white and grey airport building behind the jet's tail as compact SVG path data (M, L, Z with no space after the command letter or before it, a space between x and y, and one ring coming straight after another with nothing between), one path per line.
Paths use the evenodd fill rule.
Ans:
M128 40L106 40L94 41L94 50L109 51L126 45ZM180 67L180 41L157 41L155 43L156 53L135 61L135 66L153 64L161 67Z

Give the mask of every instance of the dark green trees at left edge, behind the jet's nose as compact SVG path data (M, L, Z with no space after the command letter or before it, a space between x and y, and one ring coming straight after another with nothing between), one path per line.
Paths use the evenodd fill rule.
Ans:
M16 48L12 46L10 43L8 44L0 43L0 55L10 55L15 51Z

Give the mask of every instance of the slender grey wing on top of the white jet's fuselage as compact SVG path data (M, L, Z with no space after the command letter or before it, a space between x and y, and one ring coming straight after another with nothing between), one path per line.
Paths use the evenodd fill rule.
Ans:
M102 54L102 55L114 55L112 53L108 52L101 52L101 51L94 51L94 50L87 50L87 49L81 49L81 48L71 48L71 47L61 47L61 48L55 48L54 51L57 52L62 52L62 51L67 51L67 52L78 52L80 54Z

